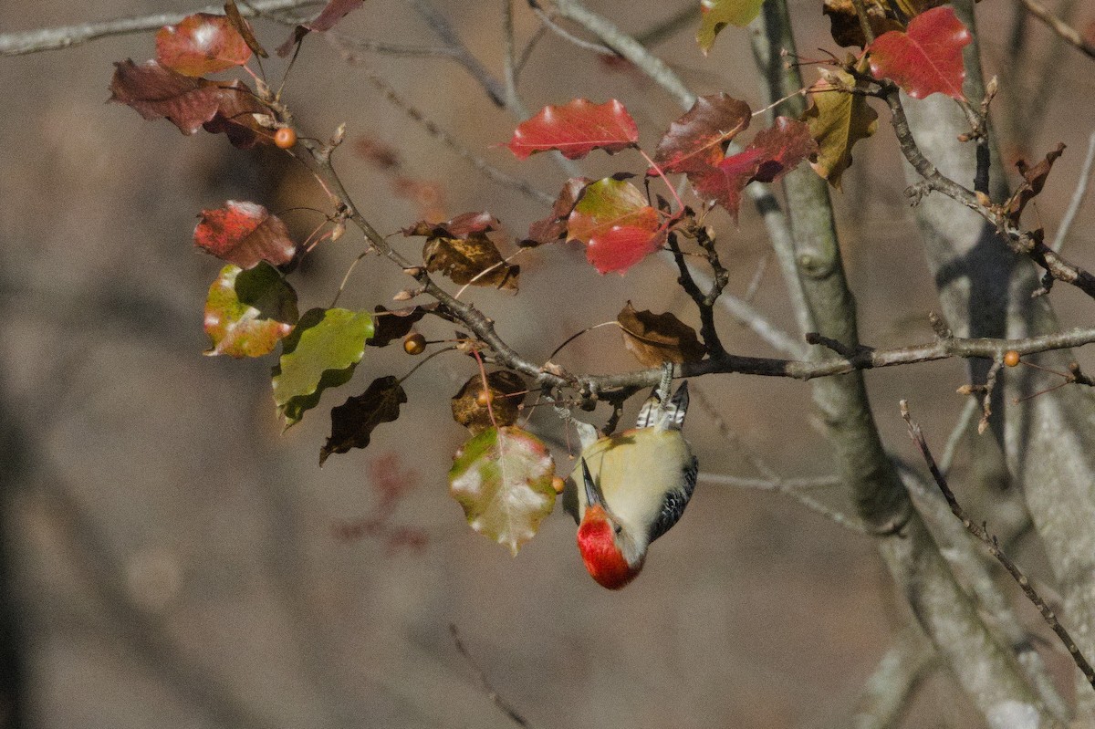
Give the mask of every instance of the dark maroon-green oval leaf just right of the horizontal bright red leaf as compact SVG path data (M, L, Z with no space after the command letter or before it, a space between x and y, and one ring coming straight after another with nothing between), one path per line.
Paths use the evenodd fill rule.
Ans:
M690 172L718 164L723 150L751 119L749 104L726 94L701 96L689 112L669 125L654 161L661 171Z

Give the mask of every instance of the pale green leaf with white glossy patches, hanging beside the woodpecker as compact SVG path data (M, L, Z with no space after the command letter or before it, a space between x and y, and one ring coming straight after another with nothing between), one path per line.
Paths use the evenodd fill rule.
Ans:
M554 475L538 438L516 427L489 428L457 451L449 490L472 529L516 557L555 507Z

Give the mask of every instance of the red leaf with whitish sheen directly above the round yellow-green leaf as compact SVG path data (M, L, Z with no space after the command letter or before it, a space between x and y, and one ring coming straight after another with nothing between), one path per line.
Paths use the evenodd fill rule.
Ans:
M194 245L240 268L252 268L261 261L280 266L292 261L297 251L288 229L276 216L255 202L237 200L201 211L201 222L194 229Z

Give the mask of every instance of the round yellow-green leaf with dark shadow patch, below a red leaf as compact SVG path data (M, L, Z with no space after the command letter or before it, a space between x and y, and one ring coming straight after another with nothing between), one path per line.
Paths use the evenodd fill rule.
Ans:
M206 298L205 331L212 340L206 355L262 357L292 332L297 292L267 263L242 270L220 269Z

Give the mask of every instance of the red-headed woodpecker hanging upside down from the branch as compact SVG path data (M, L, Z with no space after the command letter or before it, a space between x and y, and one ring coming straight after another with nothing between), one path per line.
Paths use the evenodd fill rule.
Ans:
M665 402L668 393L667 379L633 429L585 445L564 495L586 569L610 590L638 575L646 548L677 523L695 488L699 463L681 435L688 382Z

